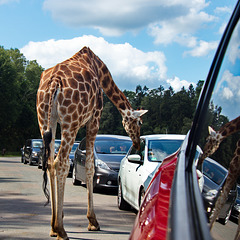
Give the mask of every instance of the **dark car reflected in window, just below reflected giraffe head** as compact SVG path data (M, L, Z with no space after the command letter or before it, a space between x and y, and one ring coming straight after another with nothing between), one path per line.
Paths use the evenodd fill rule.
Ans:
M209 217L215 206L218 196L223 188L228 175L228 170L211 158L206 158L203 163L203 200ZM231 215L231 209L237 197L236 185L231 189L228 199L219 214L219 222L226 224Z

